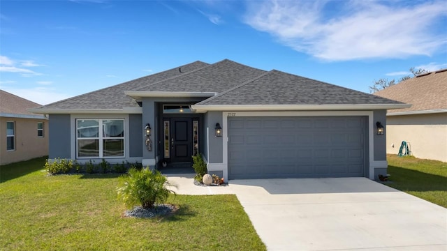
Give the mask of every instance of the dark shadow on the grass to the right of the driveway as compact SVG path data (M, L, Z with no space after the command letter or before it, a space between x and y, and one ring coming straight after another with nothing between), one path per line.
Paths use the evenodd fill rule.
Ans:
M392 188L409 191L447 191L447 177L427 174L402 167L388 166L390 182L386 183Z

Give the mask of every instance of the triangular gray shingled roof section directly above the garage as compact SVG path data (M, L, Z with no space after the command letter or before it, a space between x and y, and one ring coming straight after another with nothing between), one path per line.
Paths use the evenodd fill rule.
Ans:
M400 104L341 86L279 70L240 84L197 105L356 105Z

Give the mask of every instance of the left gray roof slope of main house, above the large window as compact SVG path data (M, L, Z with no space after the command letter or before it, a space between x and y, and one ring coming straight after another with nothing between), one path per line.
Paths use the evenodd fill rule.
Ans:
M145 86L149 86L164 79L183 75L193 70L203 68L208 63L196 61L177 68L155 73L146 77L110 86L98 91L92 91L80 96L68 98L54 102L50 105L45 105L45 109L123 109L123 107L138 107L138 103L131 97L126 96L124 91L136 91ZM182 70L180 73L179 69Z

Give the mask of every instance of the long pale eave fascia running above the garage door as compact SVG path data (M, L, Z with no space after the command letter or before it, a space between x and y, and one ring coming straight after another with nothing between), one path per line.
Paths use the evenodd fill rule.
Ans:
M373 110L402 109L408 104L358 104L358 105L191 105L197 113L207 111L317 111L317 110Z

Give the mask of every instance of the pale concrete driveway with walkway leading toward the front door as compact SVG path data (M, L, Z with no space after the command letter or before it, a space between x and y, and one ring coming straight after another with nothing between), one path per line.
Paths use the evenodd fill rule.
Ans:
M234 180L187 195L235 194L268 250L447 250L447 209L367 178Z

